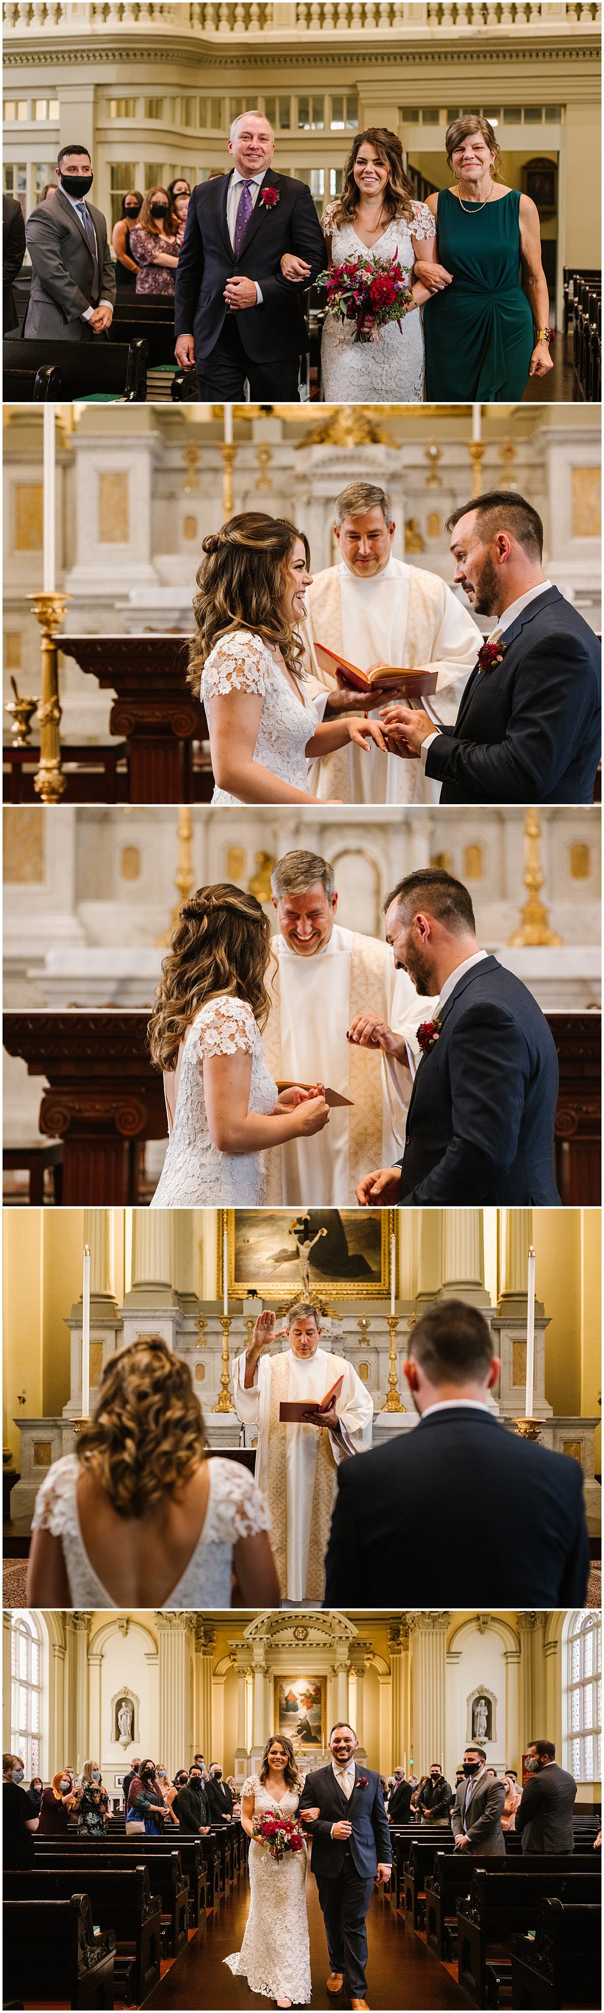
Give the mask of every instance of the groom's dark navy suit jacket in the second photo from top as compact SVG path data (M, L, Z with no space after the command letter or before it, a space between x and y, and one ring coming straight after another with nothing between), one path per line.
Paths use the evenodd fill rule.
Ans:
M503 634L493 670L469 674L455 727L427 751L441 803L592 803L600 761L600 644L544 588Z

